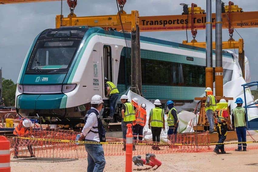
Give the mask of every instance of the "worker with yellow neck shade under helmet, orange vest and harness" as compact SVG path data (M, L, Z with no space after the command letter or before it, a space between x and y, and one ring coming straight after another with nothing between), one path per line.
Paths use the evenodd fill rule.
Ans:
M218 143L224 143L226 140L227 130L231 129L231 123L229 121L229 114L228 114L228 103L225 99L221 99L219 103L216 105L216 119L215 119L215 126L217 133L219 135ZM221 154L226 154L224 149L224 144L217 144L213 152L219 154L219 150Z

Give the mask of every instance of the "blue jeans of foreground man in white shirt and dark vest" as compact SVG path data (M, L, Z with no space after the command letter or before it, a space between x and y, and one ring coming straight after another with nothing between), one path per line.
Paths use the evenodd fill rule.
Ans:
M91 141L91 140L85 139L85 141ZM106 164L102 145L85 144L85 149L88 153L87 172L102 172Z

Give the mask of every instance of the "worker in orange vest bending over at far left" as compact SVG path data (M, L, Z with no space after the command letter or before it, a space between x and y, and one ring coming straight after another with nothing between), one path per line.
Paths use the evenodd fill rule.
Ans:
M13 134L17 137L14 138L14 157L18 158L18 151L19 151L19 141L18 137L33 137L32 136L32 122L29 119L21 119L21 120L14 120L14 122L19 122L19 124L15 127ZM35 157L32 151L32 145L27 145L30 156Z

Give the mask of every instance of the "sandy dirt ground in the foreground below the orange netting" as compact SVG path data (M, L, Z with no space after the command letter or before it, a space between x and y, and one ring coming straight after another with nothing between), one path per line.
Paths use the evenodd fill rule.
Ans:
M258 137L255 137L257 140ZM247 141L251 138L248 136ZM258 144L249 144L250 147ZM236 144L225 145L225 148L237 147ZM214 146L212 147L214 148ZM162 162L158 168L149 166L137 167L134 164L133 171L258 171L258 149L246 152L226 151L226 154L206 153L174 153L157 154L156 158ZM145 155L142 155L145 158ZM104 171L125 171L125 156L106 156ZM257 165L248 165L257 163ZM11 162L12 172L76 172L87 171L87 158L60 163L28 163Z

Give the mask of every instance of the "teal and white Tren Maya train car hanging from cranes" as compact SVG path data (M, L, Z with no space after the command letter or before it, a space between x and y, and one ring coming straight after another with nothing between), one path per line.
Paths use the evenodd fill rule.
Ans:
M144 98L187 103L203 94L204 48L147 37L140 40ZM120 95L126 93L134 67L130 46L131 34L98 27L42 31L19 74L17 112L22 117L39 117L42 123L77 124L83 121L95 94L104 98L108 109L104 76L117 85ZM215 54L213 59L215 66ZM224 83L231 80L233 63L233 56L223 53ZM119 121L119 110L116 112L114 121Z

